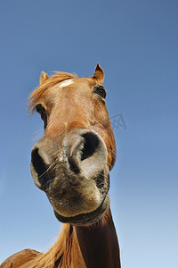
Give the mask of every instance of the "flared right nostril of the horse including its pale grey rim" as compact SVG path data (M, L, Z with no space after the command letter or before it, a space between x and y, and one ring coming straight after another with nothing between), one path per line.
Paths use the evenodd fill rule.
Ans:
M63 140L72 172L87 175L98 172L107 163L107 148L101 136L93 130L77 130Z

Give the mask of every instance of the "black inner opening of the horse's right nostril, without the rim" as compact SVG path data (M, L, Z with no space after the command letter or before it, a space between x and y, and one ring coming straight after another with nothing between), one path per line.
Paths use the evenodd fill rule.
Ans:
M85 142L82 150L81 161L92 156L100 143L99 138L93 132L85 133L82 137L85 139Z

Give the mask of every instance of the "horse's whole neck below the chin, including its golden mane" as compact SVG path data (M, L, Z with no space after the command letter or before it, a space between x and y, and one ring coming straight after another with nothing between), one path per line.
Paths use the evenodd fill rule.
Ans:
M32 268L120 268L117 234L110 209L89 227L65 223L59 239Z

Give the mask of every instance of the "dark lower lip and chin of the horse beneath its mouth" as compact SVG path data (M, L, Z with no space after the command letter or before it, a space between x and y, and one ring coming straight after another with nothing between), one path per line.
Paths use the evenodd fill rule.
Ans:
M109 208L109 194L107 194L103 198L101 205L96 210L90 213L77 214L76 216L65 217L59 214L55 209L53 209L53 211L57 220L60 222L70 223L76 226L89 226L95 222L99 222L108 208Z

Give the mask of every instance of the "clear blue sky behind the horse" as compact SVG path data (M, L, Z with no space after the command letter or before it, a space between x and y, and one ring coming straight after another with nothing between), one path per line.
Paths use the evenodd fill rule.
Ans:
M1 0L0 37L0 263L61 230L29 172L43 123L28 95L41 71L89 77L100 62L109 116L126 125L110 174L122 268L177 268L177 0Z

